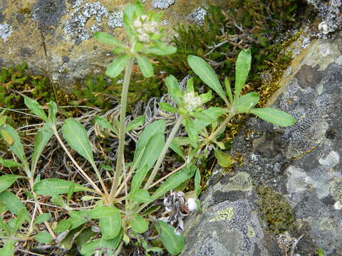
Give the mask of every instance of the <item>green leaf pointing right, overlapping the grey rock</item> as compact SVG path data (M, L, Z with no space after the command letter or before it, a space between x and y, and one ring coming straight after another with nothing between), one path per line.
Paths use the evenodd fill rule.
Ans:
M274 108L252 109L251 113L267 122L271 122L272 124L276 124L281 127L288 127L296 123L296 119L294 119L291 114L287 114L284 111L276 110Z

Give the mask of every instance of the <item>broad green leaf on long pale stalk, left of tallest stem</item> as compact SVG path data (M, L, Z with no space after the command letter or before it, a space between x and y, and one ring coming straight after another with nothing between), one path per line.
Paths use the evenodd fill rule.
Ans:
M91 150L88 134L83 125L75 119L68 118L64 120L62 127L63 137L78 154L87 159L90 164L95 164L93 151Z

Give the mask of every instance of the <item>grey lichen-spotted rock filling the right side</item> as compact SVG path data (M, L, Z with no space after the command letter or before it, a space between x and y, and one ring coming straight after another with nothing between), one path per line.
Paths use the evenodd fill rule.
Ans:
M249 119L231 149L243 165L209 181L182 256L291 255L296 240L293 255L342 255L342 33L311 42L288 74L269 105L296 124Z

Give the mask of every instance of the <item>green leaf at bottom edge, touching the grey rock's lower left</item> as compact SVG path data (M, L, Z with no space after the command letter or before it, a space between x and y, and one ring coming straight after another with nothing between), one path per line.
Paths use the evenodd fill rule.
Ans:
M167 252L172 255L177 255L182 252L184 247L184 238L182 235L175 234L175 228L170 227L167 223L162 220L158 220L159 225L157 231L160 235L160 240L165 246Z

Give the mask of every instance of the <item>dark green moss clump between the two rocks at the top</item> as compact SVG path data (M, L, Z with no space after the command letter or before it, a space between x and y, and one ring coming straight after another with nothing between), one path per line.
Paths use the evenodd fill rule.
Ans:
M177 53L157 58L159 68L181 79L191 73L187 56L198 55L209 61L221 80L228 77L234 84L234 65L239 50L251 48L252 68L246 92L266 90L261 87L263 74L278 73L291 60L281 38L288 28L299 26L295 15L301 4L304 1L232 0L227 4L227 11L209 6L204 26L180 24L175 28L177 36L173 43ZM271 86L269 83L268 87ZM269 92L261 93L261 101L264 96L269 97Z

